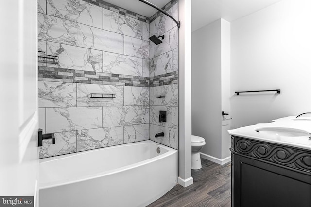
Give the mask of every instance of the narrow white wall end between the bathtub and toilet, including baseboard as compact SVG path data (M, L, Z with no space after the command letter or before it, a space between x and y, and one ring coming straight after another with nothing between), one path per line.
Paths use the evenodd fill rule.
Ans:
M187 187L191 177L191 0L178 1L178 183Z

